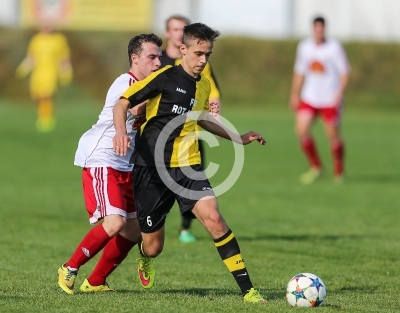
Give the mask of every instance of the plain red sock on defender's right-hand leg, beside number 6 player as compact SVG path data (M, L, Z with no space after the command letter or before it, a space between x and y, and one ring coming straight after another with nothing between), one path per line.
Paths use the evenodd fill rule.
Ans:
M104 247L99 262L88 278L89 283L92 286L103 285L107 277L122 263L134 245L136 245L136 242L130 241L120 234L111 239Z

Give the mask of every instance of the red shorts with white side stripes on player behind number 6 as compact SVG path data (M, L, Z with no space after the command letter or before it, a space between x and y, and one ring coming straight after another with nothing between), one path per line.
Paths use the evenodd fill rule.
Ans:
M82 181L90 224L112 214L136 218L131 172L111 167L84 168Z

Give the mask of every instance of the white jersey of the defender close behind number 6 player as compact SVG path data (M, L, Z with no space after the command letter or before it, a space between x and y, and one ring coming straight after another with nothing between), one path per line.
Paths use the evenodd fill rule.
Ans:
M136 116L128 111L126 133L130 138L130 147L126 155L117 155L113 150L115 127L113 122L113 107L123 92L137 81L132 73L119 76L107 92L106 101L96 124L92 126L79 140L75 153L74 164L81 167L112 167L118 171L131 171L130 157L135 147L137 127L134 125Z

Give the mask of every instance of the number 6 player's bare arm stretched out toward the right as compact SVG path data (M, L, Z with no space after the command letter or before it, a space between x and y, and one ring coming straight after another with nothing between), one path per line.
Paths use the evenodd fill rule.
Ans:
M231 140L242 145L247 145L252 141L258 141L260 144L265 145L265 139L258 133L250 131L244 135L238 135L223 126L218 120L213 116L208 114L208 112L203 112L200 116L198 124L209 131L210 133L220 136L222 138Z

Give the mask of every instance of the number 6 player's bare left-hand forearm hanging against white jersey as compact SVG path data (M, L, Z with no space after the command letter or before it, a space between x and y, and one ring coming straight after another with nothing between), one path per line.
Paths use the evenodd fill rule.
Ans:
M115 136L113 138L113 149L118 155L124 156L130 145L130 140L126 134L126 114L129 109L129 101L120 99L113 107L113 119Z

